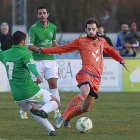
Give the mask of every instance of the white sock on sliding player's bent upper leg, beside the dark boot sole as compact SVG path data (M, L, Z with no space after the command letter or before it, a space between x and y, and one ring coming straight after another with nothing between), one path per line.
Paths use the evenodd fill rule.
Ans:
M40 108L40 110L44 110L46 113L55 111L56 109L58 109L58 104L56 101L50 101Z

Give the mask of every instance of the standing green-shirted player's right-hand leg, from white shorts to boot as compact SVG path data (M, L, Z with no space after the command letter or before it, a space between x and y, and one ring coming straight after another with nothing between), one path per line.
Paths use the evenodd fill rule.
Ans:
M57 88L57 79L58 79L58 64L55 60L50 62L45 62L46 72L44 73L45 79L48 81L50 92L59 100L60 95ZM61 116L61 113L58 110L55 110L54 118L58 119Z

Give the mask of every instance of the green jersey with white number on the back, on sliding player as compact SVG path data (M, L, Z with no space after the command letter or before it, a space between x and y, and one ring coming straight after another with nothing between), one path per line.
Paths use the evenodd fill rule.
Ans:
M32 55L27 52L27 47L13 45L11 49L3 53L4 64L14 100L21 101L34 96L40 90L40 87L33 82L27 68L28 65L34 65ZM37 73L36 77L38 75Z

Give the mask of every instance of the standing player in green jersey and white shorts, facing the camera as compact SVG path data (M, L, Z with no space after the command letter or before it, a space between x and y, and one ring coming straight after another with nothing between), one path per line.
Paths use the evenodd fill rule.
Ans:
M38 21L29 29L27 46L32 51L39 74L48 81L50 92L60 101L57 88L58 64L53 54L39 54L37 51L38 47L49 48L58 46L56 41L56 26L47 20L48 17L49 13L46 6L39 6L37 8ZM32 75L32 79L36 81L34 75ZM61 113L59 110L56 110L54 118L57 119L60 116Z

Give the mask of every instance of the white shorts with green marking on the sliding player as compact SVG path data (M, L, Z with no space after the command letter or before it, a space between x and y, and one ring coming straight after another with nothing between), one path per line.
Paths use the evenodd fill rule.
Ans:
M49 91L45 89L40 89L40 91L37 94L35 94L33 97L26 100L15 101L15 102L19 105L19 107L23 111L30 111L33 104L36 104L37 107L41 107L47 102L49 102L52 99L51 95L52 94Z

